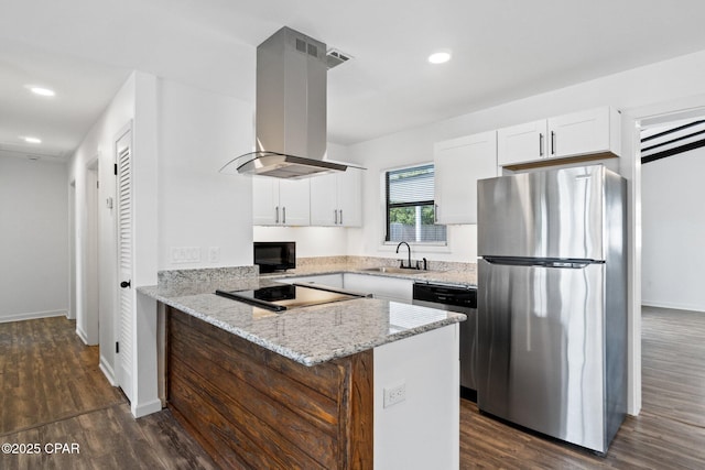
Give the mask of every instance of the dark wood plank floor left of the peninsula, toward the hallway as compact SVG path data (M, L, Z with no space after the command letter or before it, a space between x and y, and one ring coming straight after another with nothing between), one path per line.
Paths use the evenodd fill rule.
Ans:
M0 469L217 468L169 411L134 419L75 330L63 317L0 324Z

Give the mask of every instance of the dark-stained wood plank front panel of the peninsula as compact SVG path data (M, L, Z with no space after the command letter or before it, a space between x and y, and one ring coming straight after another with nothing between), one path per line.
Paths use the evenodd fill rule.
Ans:
M166 307L166 397L225 468L371 469L372 350L306 367Z

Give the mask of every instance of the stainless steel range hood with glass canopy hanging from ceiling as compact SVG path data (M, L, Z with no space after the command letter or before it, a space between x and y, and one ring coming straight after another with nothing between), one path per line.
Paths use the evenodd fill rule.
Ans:
M256 151L221 173L304 178L345 172L326 156L326 45L282 28L257 47Z

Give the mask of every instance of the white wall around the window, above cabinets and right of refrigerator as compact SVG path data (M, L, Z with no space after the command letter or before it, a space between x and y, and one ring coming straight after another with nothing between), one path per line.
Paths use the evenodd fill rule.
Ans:
M433 143L551 116L612 106L625 111L622 124L621 173L629 183L629 413L641 408L641 245L640 245L640 165L636 160L634 119L646 118L650 110L676 111L673 103L697 106L705 92L705 51L676 57L644 67L610 75L575 86L557 89L494 108L470 112L431 125L410 129L392 135L352 145L350 161L369 171L365 176L364 229L348 233L348 254L376 255L380 253L380 233L383 219L379 203L380 171L400 162L430 162ZM688 102L693 101L693 105ZM468 226L469 227L469 226ZM467 228L451 227L449 252L432 253L430 259L474 261L476 233ZM414 255L425 255L416 249Z

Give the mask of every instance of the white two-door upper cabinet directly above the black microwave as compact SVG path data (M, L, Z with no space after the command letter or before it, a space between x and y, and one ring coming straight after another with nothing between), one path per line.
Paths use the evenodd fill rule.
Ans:
M308 179L252 177L252 223L256 226L311 225Z

